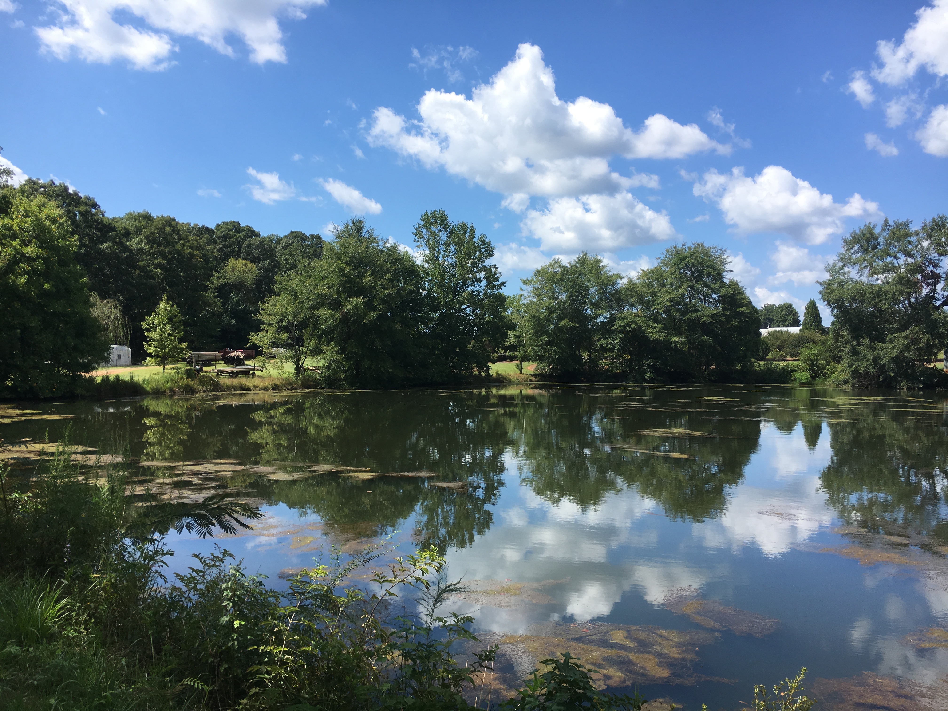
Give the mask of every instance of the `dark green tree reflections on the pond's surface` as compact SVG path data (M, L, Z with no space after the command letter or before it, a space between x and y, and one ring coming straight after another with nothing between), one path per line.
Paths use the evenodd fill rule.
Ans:
M672 520L716 519L765 424L782 434L800 428L812 449L826 423L832 455L821 488L843 520L871 533L948 540L948 428L931 399L816 388L545 386L262 400L253 408L146 400L142 459L428 470L466 489L331 474L261 486L271 501L318 515L337 537L384 535L413 517L414 538L444 550L490 528L504 475L513 472L553 504L590 509L635 489Z

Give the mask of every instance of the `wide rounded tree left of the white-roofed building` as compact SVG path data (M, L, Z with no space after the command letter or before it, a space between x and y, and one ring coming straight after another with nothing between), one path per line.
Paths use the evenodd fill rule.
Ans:
M749 367L760 347L760 318L743 287L727 279L727 264L718 246L669 246L658 264L629 281L612 340L616 370L686 381Z

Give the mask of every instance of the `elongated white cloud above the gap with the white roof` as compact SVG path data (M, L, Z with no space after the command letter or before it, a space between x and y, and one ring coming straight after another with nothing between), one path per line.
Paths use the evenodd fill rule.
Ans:
M723 174L711 170L693 191L717 204L738 234L782 232L809 245L842 233L848 218L879 214L878 204L858 192L844 204L835 203L832 195L774 165L754 177L744 175L743 168Z

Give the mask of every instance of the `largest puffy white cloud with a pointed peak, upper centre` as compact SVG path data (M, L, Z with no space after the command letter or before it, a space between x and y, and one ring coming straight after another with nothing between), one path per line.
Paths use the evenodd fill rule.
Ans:
M611 170L612 155L681 158L730 151L697 125L662 114L635 132L609 104L561 100L553 70L539 47L527 44L490 82L475 87L470 99L431 89L418 114L410 121L392 109L375 109L370 143L504 195L611 194L633 184Z

